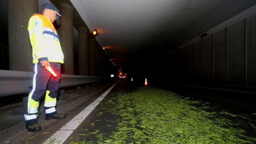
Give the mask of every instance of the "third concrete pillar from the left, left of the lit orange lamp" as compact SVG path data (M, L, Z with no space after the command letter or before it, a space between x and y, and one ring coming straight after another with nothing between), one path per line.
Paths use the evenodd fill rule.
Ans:
M79 75L88 76L88 34L87 28L78 28L78 69Z

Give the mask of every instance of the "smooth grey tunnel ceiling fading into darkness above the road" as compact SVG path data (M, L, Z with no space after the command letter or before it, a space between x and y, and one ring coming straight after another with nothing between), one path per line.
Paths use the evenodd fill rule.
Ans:
M70 0L120 66L161 56L256 4L255 0ZM142 62L143 63L143 62Z

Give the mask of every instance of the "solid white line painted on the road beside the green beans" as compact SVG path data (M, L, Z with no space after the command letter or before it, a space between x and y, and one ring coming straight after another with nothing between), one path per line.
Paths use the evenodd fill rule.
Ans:
M89 106L82 110L77 116L70 120L66 125L64 125L59 131L53 134L43 144L62 144L116 84L117 82L112 85L107 91L105 91L101 96L99 96L94 102L92 102Z

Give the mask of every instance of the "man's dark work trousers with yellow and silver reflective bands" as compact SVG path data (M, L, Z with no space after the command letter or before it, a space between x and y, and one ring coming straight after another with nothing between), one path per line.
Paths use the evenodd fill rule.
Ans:
M56 113L56 97L60 86L60 63L50 62L50 65L57 74L56 77L45 70L40 63L34 64L33 85L30 86L28 97L28 113L24 115L27 125L37 121L39 101L45 92L45 114L49 116Z

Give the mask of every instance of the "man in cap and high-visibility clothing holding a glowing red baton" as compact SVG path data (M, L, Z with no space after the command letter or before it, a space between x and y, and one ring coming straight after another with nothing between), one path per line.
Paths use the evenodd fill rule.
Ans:
M29 38L32 45L34 64L33 85L28 96L28 112L24 115L28 131L39 131L37 122L39 101L46 91L44 109L45 119L63 119L65 114L57 113L56 97L60 85L60 65L64 62L60 40L53 22L61 16L49 3L42 6L42 15L34 14L28 23ZM46 68L50 66L57 74L52 76Z

